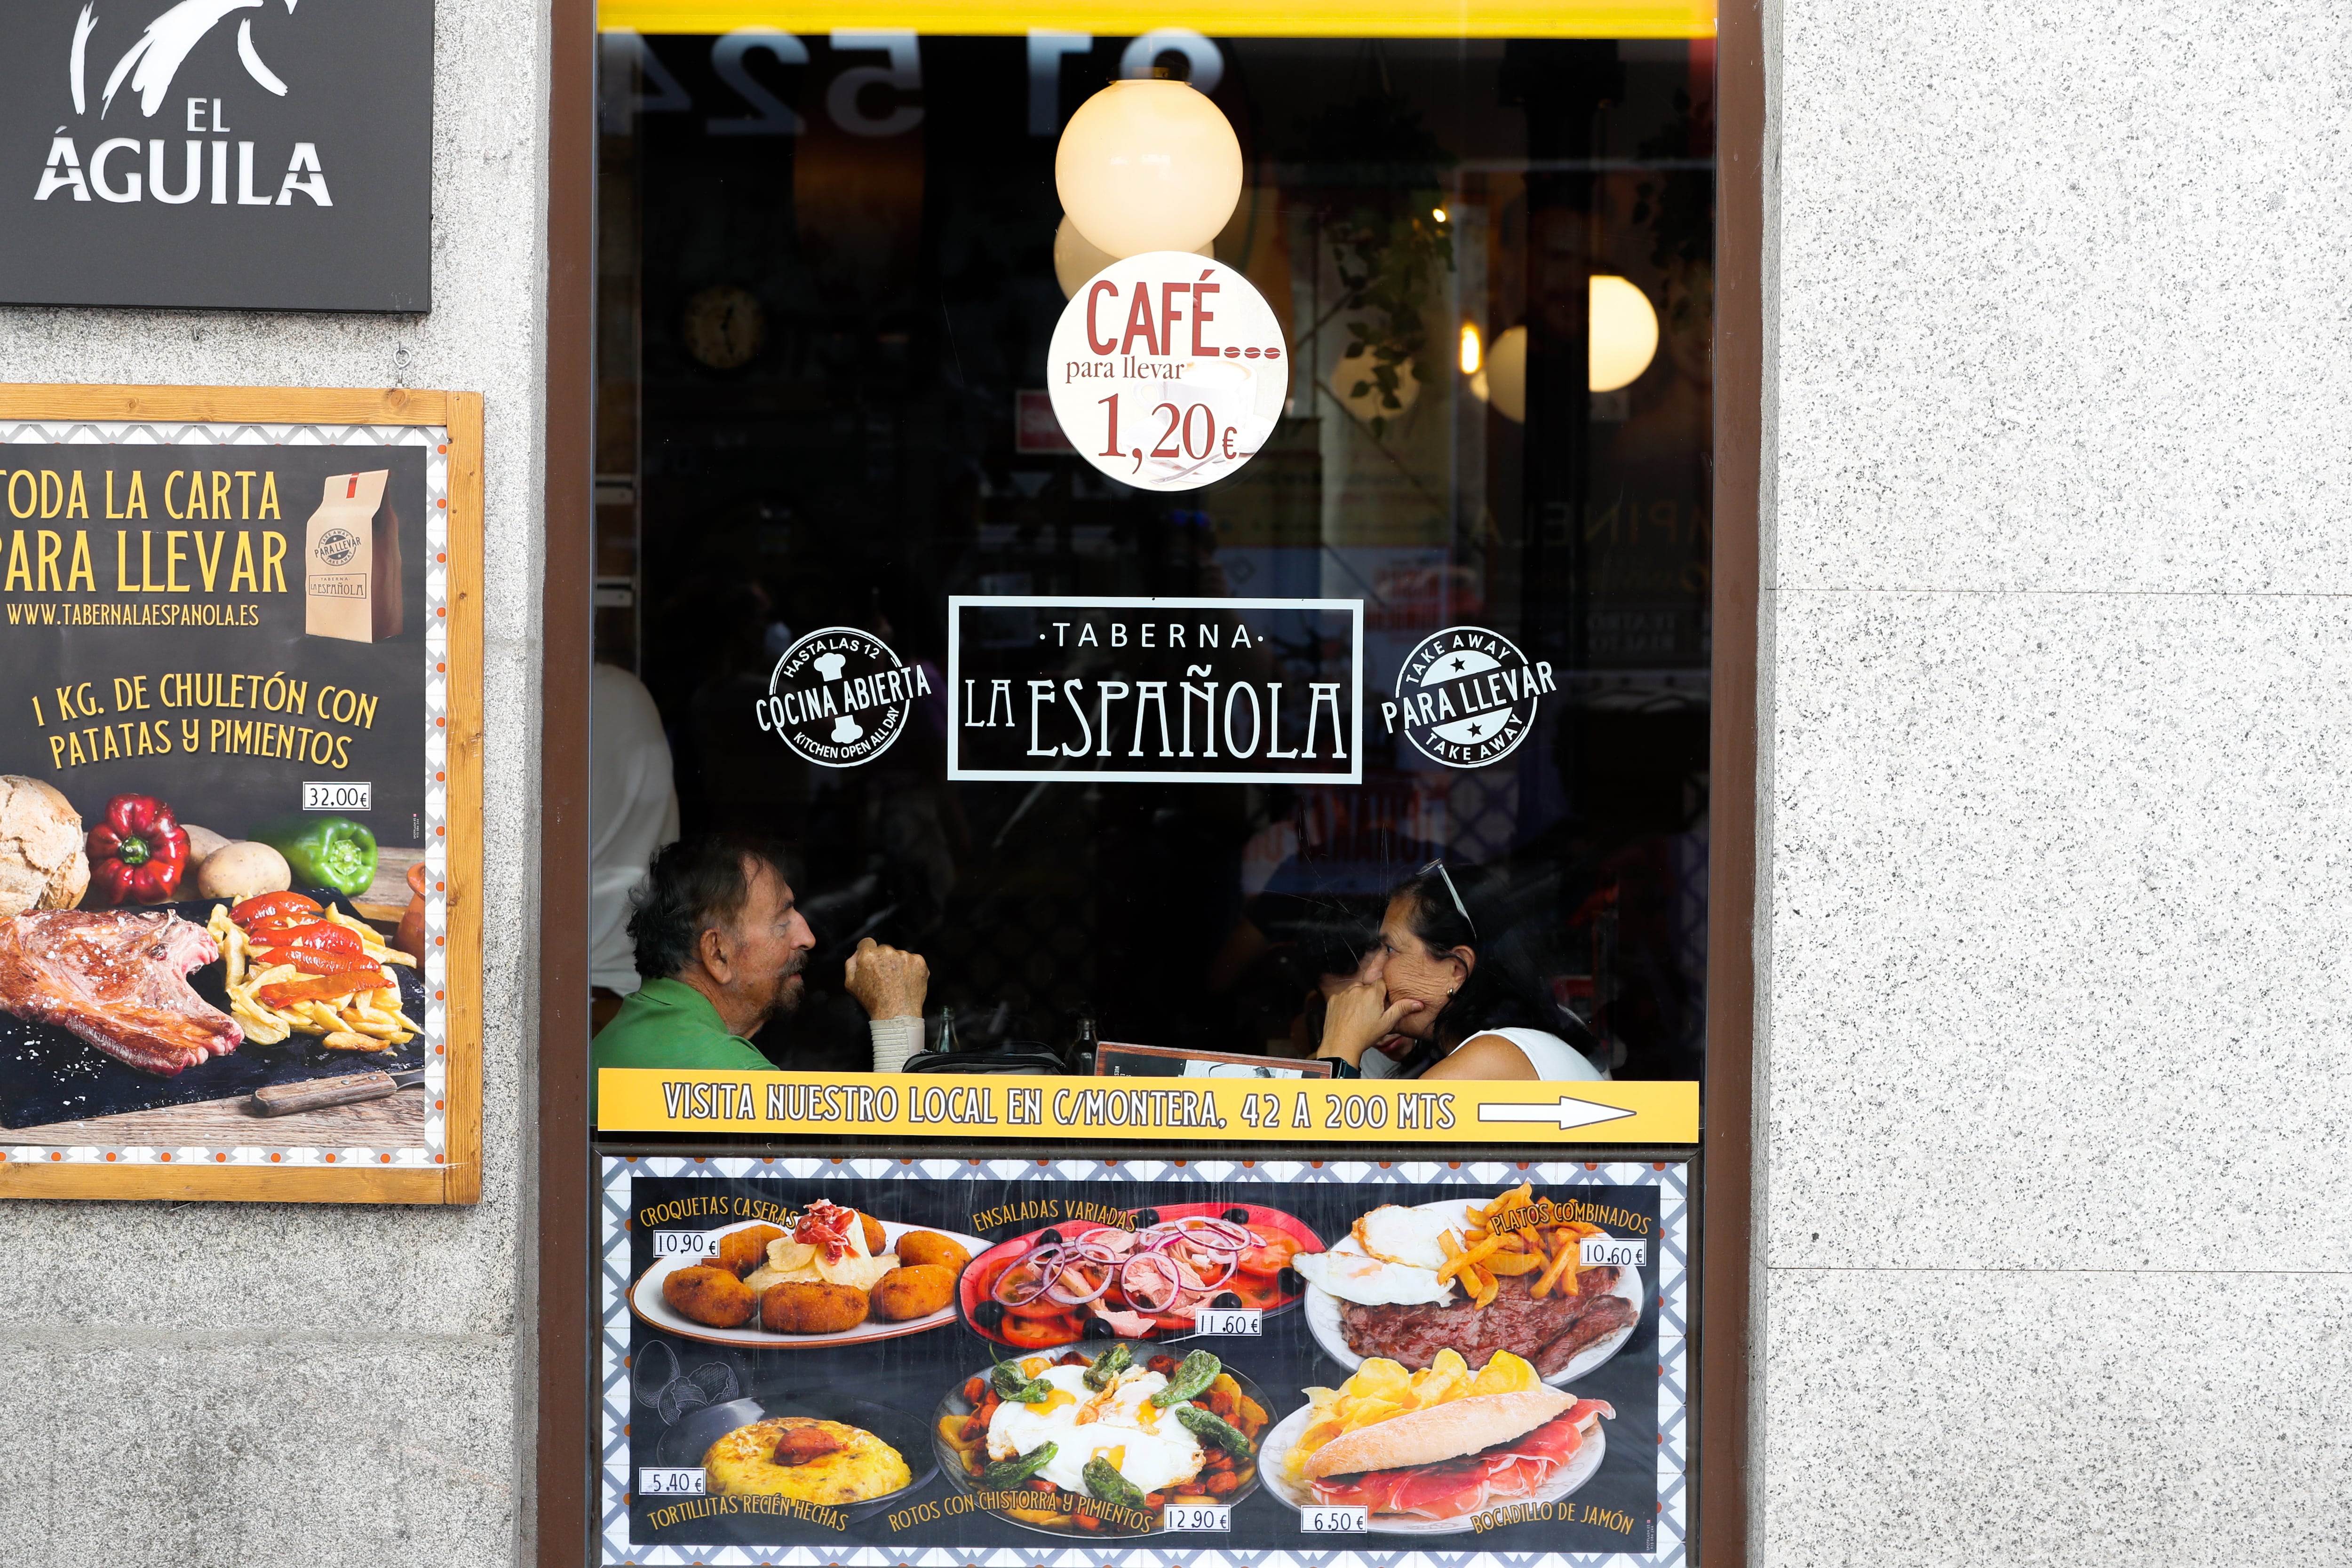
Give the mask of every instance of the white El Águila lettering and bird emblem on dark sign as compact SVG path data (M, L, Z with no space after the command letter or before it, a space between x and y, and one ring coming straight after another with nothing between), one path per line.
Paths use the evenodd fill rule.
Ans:
M285 14L292 16L301 0L282 2ZM287 82L270 71L268 61L261 59L261 47L254 42L254 16L261 16L266 26L278 21L270 14L270 0L179 0L179 5L155 16L122 49L113 71L106 73L103 85L96 89L96 110L92 113L92 54L99 54L103 61L103 49L113 45L101 45L99 40L103 24L96 2L82 5L82 14L73 26L73 52L64 61L66 68L61 73L73 92L73 120L52 132L49 155L42 162L33 200L155 200L165 207L179 207L209 190L209 205L214 207L292 207L296 195L306 195L320 207L334 207L334 195L327 190L327 172L318 160L318 143L296 141L285 153L285 176L278 179L273 190L268 181L280 155L275 148L261 155L261 174L256 174L256 148L252 141L235 139L219 96L209 96L207 92L205 96L186 96L186 103L181 103L181 94L172 92L188 54L214 28L223 26L233 12L252 12L252 16L238 19L238 63L245 66L245 75L263 92L280 99L287 96ZM188 85L181 82L181 87ZM216 87L212 82L193 85L205 89ZM108 122L108 115L115 110L115 94L125 87L132 92L132 99L125 99L125 113ZM167 99L186 108L186 115L165 115L165 125L151 129L169 127L174 136L141 139L106 134L108 129L139 129L139 122L129 120L127 113L132 101L139 106L139 118L153 120ZM87 162L82 158L85 136L92 141ZM172 158L174 141L183 146L176 169Z

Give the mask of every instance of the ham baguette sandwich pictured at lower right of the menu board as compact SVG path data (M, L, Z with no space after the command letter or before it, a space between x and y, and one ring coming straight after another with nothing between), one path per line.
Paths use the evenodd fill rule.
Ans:
M1463 1519L1538 1493L1599 1439L1604 1415L1616 1420L1599 1399L1559 1389L1475 1394L1336 1436L1308 1458L1305 1474L1317 1502Z

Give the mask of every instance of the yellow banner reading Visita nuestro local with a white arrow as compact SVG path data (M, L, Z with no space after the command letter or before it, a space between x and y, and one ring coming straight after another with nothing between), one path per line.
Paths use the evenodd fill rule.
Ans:
M597 1072L600 1133L1698 1143L1698 1084Z

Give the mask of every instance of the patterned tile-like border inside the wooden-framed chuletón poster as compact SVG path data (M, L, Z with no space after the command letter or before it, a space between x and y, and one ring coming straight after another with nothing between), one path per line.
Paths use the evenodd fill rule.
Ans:
M426 1103L442 1105L449 1081L449 1009L437 999L449 983L442 940L449 905L440 891L449 877L449 788L433 783L449 764L449 677L435 665L449 661L449 430L442 425L202 425L153 421L59 421L0 425L5 447L423 447L426 449ZM5 1133L0 1133L5 1138ZM230 1150L153 1145L5 1145L5 1159L59 1159L73 1164L226 1164L226 1166L433 1166L447 1152L445 1112L426 1112L421 1145L318 1150L292 1145L238 1145Z

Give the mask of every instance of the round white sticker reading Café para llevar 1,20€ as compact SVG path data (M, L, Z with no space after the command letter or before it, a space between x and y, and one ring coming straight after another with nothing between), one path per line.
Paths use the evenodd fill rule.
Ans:
M1082 458L1136 489L1200 489L1258 454L1289 397L1282 322L1192 252L1112 261L1061 313L1049 395Z

